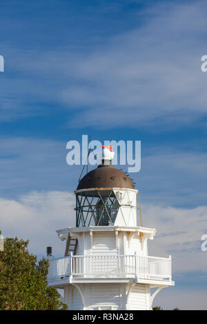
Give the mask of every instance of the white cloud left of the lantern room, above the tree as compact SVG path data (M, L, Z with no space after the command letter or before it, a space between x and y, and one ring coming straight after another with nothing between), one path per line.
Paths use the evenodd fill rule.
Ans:
M63 255L64 243L55 232L75 225L75 195L69 192L30 192L18 201L0 199L0 226L4 236L30 239L29 250Z

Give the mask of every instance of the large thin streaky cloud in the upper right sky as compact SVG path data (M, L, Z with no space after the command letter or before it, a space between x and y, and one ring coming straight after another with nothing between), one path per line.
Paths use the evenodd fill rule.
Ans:
M85 107L83 119L93 126L195 121L206 113L204 8L203 1L152 8L144 25L73 61L68 75L77 82L61 99Z

